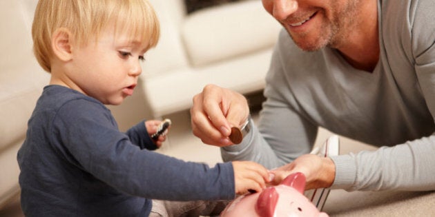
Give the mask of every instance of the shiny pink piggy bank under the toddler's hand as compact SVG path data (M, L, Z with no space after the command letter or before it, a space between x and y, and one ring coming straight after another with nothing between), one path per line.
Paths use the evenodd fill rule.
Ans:
M328 216L325 212L319 212L316 206L303 195L304 189L305 175L300 172L290 174L280 185L236 198L226 206L220 216Z

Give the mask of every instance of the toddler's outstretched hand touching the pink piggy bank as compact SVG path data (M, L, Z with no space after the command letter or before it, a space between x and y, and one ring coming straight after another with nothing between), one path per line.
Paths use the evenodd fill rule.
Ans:
M261 192L269 182L269 172L258 163L233 161L235 194L246 194L252 190Z

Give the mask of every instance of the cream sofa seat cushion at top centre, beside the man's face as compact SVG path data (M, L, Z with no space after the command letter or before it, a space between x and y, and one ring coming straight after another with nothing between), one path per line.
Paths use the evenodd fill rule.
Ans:
M187 16L182 39L191 64L201 66L270 48L280 28L261 1L240 1Z

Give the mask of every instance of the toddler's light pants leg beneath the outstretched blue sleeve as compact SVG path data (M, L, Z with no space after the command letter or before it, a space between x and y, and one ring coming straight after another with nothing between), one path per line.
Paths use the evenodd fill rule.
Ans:
M230 200L168 201L153 200L150 217L219 216Z

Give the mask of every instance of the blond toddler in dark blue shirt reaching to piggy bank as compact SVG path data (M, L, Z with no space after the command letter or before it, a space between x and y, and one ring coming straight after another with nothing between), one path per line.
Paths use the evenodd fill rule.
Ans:
M157 44L148 1L41 0L32 37L50 84L17 156L26 216L182 216L195 205L169 201L229 200L265 187L257 163L209 167L152 152L165 140L151 138L160 121L119 132L105 105L133 94L140 61Z

